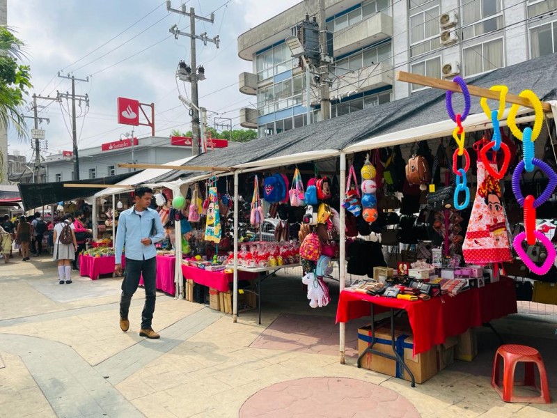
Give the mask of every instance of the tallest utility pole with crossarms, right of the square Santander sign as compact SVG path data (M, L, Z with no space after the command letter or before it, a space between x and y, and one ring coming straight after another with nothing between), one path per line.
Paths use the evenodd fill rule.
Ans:
M209 22L212 24L214 22L214 13L211 13L210 18L198 16L196 15L196 10L191 7L189 8L189 13L186 12L185 4L182 4L180 10L173 9L171 7L171 0L166 0L166 10L168 12L178 13L182 16L189 17L189 30L191 33L182 32L178 29L178 25L173 25L170 29L170 32L174 34L174 37L178 39L178 36L187 36L190 38L190 46L191 46L191 68L189 69L189 73L187 75L188 82L191 82L191 102L194 106L191 107L191 147L192 147L192 154L199 155L200 148L199 148L199 131L200 131L200 118L199 118L199 98L198 98L198 89L197 89L197 82L198 80L202 81L205 79L205 68L201 67L197 68L197 61L196 61L196 39L203 40L203 44L207 45L207 42L213 42L217 48L219 47L219 36L215 36L214 38L208 38L207 33L201 33L200 35L196 35L196 20L203 20L204 22Z

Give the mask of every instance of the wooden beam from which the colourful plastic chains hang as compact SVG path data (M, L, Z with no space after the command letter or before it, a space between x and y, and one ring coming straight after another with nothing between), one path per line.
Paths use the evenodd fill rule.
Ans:
M448 80L441 80L432 77L425 77L425 75L412 74L411 72L398 71L396 73L396 79L400 82L407 82L412 84L419 84L420 86L434 87L441 90L450 90L457 93L462 93L460 86L455 82L450 82ZM493 100L499 100L499 91L489 90L488 88L476 87L468 85L468 91L471 95L477 96L478 98L487 98ZM532 108L530 100L521 98L519 95L509 94L505 97L505 102L520 104L524 107ZM544 111L551 111L551 105L547 102L542 102L542 109Z

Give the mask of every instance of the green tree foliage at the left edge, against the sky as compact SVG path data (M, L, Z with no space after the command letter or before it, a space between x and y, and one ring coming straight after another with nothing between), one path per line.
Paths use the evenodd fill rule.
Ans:
M24 44L6 26L0 26L0 126L15 127L20 139L26 137L21 107L31 85L29 65L22 65Z

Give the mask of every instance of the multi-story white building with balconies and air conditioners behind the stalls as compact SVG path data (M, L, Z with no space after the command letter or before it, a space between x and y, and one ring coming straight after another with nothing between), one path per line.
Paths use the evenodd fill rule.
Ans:
M317 0L304 0L242 33L240 91L257 109L240 111L260 137L307 124L306 82L285 38ZM422 86L394 83L395 71L452 79L471 77L557 51L557 0L325 0L334 63L331 117L406 98ZM311 118L320 120L311 79Z

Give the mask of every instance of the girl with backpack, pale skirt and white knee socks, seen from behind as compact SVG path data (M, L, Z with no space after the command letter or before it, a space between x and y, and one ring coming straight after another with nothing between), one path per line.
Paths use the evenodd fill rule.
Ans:
M77 241L75 240L74 225L72 223L72 215L64 215L61 222L54 226L54 256L53 260L58 261L58 284L72 283L72 266L70 261L75 258L75 250L77 249Z

